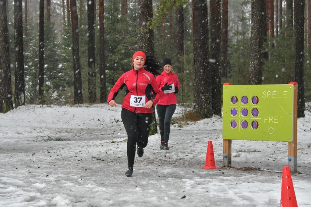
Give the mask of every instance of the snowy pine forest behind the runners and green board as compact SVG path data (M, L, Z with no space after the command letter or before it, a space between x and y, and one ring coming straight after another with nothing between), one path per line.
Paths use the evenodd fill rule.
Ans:
M255 24L255 21L252 23L252 4L255 2L265 5L264 26L261 27L264 37L260 60L262 75L256 84L296 81L297 39L302 39L303 50L299 53L302 53L304 95L300 96L303 97L300 101L309 102L311 3L308 0L40 0L39 3L0 0L0 23L7 25L7 29L2 27L0 32L1 112L12 109L3 104L6 96L15 108L24 104L105 103L115 81L131 68L132 54L143 50L159 61L165 57L172 60L182 83L178 103L200 106L196 96L202 97L200 90L208 89L207 95L217 94L218 98L209 102L213 105L212 112L201 115L221 116L215 106L221 106L217 102L221 103L223 83L254 84L250 80L253 65L250 53L254 47L251 38ZM198 5L200 7L195 7ZM147 13L148 9L151 13ZM202 25L195 21L198 13L205 13L208 21L206 36L196 39L200 34L195 34L196 29L202 30L205 26L204 18ZM302 33L297 30L300 18L295 19L297 14L303 16ZM147 45L154 48L145 48L146 42L142 39L148 38L152 43L147 42ZM200 45L205 46L202 53L196 50ZM9 78L5 80L4 56L9 60ZM207 60L208 65L205 62L205 67L202 64L197 67L200 63L196 63L196 56ZM217 74L211 74L213 80L198 81L196 76L200 76L200 72L196 70L211 71L213 67ZM202 78L209 75L205 73ZM8 88L11 94L6 93ZM121 99L119 95L117 103L121 103Z

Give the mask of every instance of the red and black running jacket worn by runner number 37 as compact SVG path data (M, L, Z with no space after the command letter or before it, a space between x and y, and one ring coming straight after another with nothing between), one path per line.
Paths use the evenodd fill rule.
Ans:
M118 92L122 90L124 86L126 86L127 89L121 106L122 108L135 113L152 113L152 107L144 108L130 106L131 95L145 95L146 103L149 100L152 100L153 105L159 101L161 90L159 89L156 78L152 73L146 71L144 67L138 71L132 69L123 73L114 84L114 87L110 90L107 103L114 100L118 95Z

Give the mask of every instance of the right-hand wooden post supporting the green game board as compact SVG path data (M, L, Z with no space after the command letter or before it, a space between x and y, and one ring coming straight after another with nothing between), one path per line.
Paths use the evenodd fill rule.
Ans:
M293 141L288 143L288 166L291 172L297 172L297 107L298 107L298 83L293 85Z

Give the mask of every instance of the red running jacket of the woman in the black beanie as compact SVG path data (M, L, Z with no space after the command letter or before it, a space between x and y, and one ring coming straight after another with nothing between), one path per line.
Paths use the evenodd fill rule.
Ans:
M178 76L176 74L172 74L172 72L166 73L165 71L163 71L161 75L156 77L156 81L158 82L160 90L165 85L165 83L167 83L167 85L174 83L174 87L177 86L178 89L180 89ZM177 104L176 94L175 93L165 94L163 91L161 91L161 98L157 104L159 105Z

